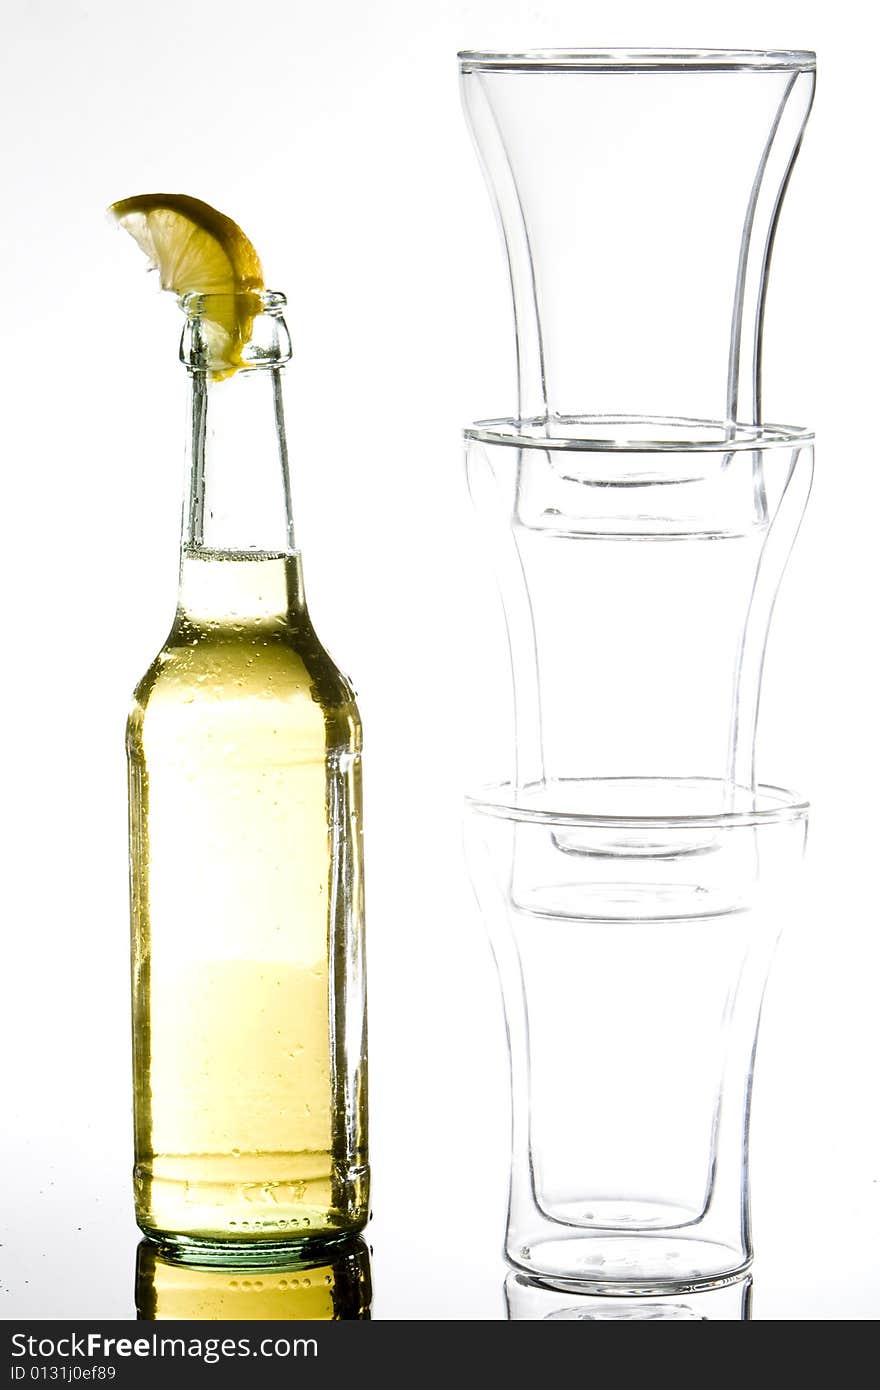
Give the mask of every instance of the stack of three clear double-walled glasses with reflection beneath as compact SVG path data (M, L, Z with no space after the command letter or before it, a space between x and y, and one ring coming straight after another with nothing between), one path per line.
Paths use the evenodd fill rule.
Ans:
M516 716L509 780L467 802L512 1316L741 1318L758 1020L808 816L756 778L755 730L813 466L760 368L815 54L460 64L519 367L517 414L466 431Z

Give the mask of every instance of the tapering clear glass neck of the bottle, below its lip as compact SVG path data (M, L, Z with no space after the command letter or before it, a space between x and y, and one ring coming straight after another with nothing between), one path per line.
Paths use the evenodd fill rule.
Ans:
M189 379L179 607L209 620L303 609L281 368Z

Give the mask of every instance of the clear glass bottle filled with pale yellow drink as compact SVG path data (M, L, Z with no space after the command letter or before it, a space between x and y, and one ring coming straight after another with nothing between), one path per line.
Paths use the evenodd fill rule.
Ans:
M211 382L190 310L179 603L128 720L135 1205L178 1248L367 1218L361 726L292 543L277 322Z

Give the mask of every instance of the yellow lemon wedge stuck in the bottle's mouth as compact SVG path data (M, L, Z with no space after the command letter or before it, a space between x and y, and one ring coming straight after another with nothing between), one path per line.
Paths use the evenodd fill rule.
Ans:
M241 227L186 193L139 193L108 211L158 271L163 289L206 296L209 371L229 377L242 364L263 289L260 257Z

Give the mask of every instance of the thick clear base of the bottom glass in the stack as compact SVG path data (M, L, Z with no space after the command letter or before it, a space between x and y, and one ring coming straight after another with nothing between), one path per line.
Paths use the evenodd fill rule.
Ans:
M722 1289L752 1264L717 1241L613 1232L509 1243L507 1259L553 1289L623 1297Z

